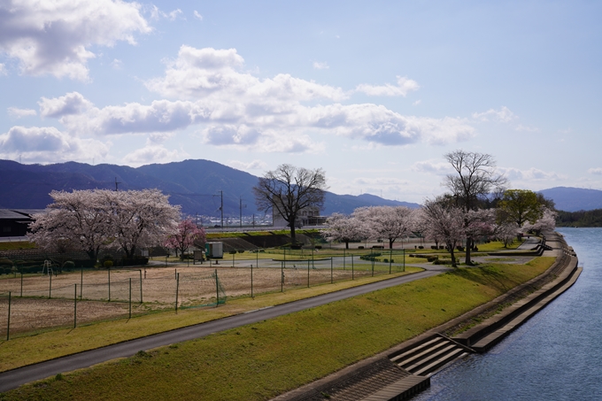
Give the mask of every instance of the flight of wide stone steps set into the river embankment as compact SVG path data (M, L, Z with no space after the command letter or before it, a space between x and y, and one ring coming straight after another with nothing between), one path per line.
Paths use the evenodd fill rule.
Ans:
M471 351L443 335L435 335L425 343L390 358L391 362L411 374L430 376Z

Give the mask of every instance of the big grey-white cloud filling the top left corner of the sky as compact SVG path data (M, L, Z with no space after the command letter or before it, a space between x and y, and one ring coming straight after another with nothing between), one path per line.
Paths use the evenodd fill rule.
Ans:
M135 33L151 31L140 7L111 0L0 5L0 50L19 60L21 73L87 81L91 46L135 44Z

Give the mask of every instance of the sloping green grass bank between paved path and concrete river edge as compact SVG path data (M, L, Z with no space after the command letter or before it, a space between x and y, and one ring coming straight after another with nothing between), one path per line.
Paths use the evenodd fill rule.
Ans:
M268 399L482 305L553 261L459 268L58 375L1 394L0 400Z

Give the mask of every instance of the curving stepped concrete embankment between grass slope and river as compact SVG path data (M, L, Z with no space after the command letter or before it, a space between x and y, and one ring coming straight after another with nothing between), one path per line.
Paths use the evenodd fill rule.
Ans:
M547 233L544 242L529 252L553 256L556 261L544 274L471 312L274 400L317 401L325 394L347 401L403 400L427 389L432 374L470 353L489 350L570 288L581 274L575 251L558 233ZM498 312L502 306L506 307ZM480 323L474 325L475 321Z

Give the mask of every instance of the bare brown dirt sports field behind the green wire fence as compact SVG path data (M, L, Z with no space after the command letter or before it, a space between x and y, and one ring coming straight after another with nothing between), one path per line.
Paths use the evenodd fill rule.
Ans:
M129 314L130 299L135 315L171 309L176 302L178 307L215 305L218 296L220 300L249 297L251 292L256 296L373 274L370 262L349 266L331 263L328 259L286 264L272 261L263 265L251 267L249 261L241 261L234 267L222 262L221 266L147 266L58 275L27 274L22 278L19 274L16 277L3 275L0 276L0 336L4 337L8 328L9 291L13 335L68 327L75 322L80 325L124 318ZM398 268L393 271L397 272ZM374 274L386 274L389 269L389 265L375 264Z

